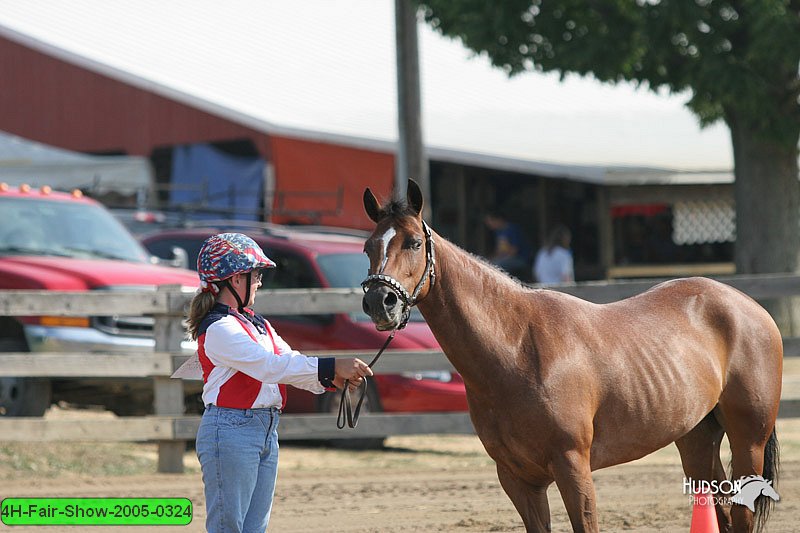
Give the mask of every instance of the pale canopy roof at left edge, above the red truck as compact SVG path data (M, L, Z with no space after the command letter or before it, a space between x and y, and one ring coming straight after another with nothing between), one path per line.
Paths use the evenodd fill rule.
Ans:
M134 194L151 190L152 180L144 157L79 154L0 131L0 182L9 185Z

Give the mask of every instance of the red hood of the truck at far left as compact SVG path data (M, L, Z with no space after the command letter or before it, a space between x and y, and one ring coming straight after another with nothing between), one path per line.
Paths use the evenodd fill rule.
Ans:
M191 270L110 259L8 256L0 258L0 288L90 290L142 285L196 287Z

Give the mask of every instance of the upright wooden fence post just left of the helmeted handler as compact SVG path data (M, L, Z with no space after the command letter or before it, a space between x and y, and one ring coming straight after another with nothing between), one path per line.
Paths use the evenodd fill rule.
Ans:
M155 351L180 353L181 340L184 337L183 314L177 315L173 310L173 299L170 292L180 291L179 285L162 285L159 291L166 293L167 314L155 315L153 333L155 336ZM170 358L171 359L171 358ZM155 376L153 378L154 408L156 416L180 416L184 413L183 381L172 379L169 376ZM158 441L158 471L162 473L183 473L183 454L186 451L186 441L160 440Z

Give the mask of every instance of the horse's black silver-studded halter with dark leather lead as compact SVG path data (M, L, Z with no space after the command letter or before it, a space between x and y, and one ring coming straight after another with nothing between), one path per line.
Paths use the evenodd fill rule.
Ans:
M431 228L422 221L422 231L425 233L425 271L422 273L422 277L420 278L417 286L414 287L414 292L411 294L408 293L403 284L397 281L392 276L383 274L383 269L378 274L371 274L367 276L367 278L361 282L361 288L366 293L371 287L375 285L386 285L389 287L397 298L403 302L403 318L400 321L400 324L392 330L392 333L387 337L386 342L383 343L383 346L378 353L375 354L375 357L372 358L372 361L369 363L369 367L372 368L375 363L378 362L381 354L383 351L386 350L386 347L389 346L389 343L392 342L394 339L395 334L398 330L401 330L406 327L408 324L408 319L411 317L411 308L417 305L417 297L419 297L419 293L422 291L422 287L425 286L425 282L430 280L430 286L433 287L434 283L436 283L436 251L433 247L433 233L431 232ZM350 391L349 391L349 381L345 381L344 387L342 389L342 397L341 401L339 402L339 415L336 419L336 426L339 429L344 429L345 422L347 426L350 428L355 428L358 425L358 416L361 413L361 405L364 403L364 397L367 395L367 380L364 379L364 389L361 391L361 397L358 399L358 403L356 404L355 411L353 411L352 406L350 405ZM346 418L346 420L345 420Z

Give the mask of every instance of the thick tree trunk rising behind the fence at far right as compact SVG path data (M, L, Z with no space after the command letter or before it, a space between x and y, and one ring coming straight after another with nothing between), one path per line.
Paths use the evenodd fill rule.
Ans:
M800 273L800 181L797 136L764 140L729 120L736 199L736 272ZM762 302L784 336L800 336L798 299Z

